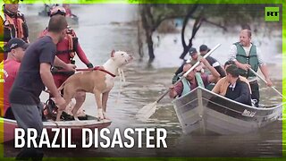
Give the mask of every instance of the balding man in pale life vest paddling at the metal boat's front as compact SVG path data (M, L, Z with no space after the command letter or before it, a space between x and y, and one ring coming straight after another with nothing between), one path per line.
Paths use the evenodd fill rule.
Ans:
M220 74L205 58L202 57L200 62L206 66L211 74L206 75L205 73L197 72L197 69L195 68L193 71L189 72L186 78L170 87L169 97L181 97L189 93L190 90L196 89L198 86L205 88L208 84L216 82L220 78ZM183 72L188 72L191 67L192 64L184 64Z

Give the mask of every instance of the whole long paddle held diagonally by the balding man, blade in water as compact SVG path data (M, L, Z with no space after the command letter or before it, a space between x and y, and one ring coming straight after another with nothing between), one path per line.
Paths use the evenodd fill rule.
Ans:
M214 52L214 50L215 50L217 47L220 47L220 46L221 46L221 44L216 45L212 50L210 50L206 55L204 55L204 58L206 58L208 55L211 55L211 54ZM179 80L177 80L177 81L174 83L174 85L178 84L183 78L185 78L185 77L189 74L189 72L193 71L193 70L198 66L198 64L200 64L199 61L198 61L196 64L194 64L194 65L189 69L188 72L185 72L185 73L183 74L183 76L182 76ZM137 117L140 121L143 121L143 122L146 121L152 114L154 114L154 113L156 112L157 103L158 103L164 96L166 96L166 95L169 93L169 91L170 91L170 89L165 90L164 93L163 93L160 97L158 97L155 102L150 103L150 104L148 104L147 106L143 106L143 107L138 111L138 113L136 114L136 117Z

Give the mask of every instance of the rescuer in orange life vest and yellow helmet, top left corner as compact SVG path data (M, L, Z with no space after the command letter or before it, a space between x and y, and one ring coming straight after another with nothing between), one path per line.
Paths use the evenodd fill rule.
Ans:
M4 45L11 38L21 38L29 43L29 30L24 14L18 11L19 1L4 1L4 18L1 17L3 23L1 28L4 32ZM4 60L7 58L7 53L4 52Z

